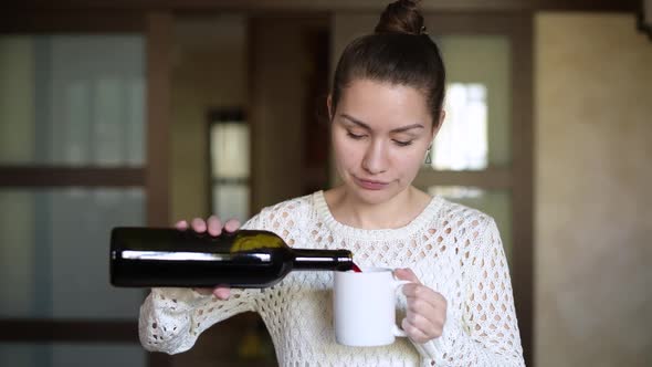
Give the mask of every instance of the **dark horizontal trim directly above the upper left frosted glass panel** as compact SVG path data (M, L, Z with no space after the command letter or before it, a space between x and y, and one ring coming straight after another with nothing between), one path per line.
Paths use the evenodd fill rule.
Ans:
M7 10L0 13L0 33L143 33L143 12L106 9Z

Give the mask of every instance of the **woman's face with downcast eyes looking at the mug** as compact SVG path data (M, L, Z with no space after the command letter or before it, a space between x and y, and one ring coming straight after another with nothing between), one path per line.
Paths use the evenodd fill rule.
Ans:
M330 115L337 170L347 192L367 203L411 185L435 134L424 96L404 85L354 81Z

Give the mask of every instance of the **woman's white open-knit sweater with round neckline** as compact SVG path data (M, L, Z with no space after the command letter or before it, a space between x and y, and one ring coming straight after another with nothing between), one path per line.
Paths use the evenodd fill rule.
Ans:
M382 347L335 342L333 273L296 271L263 290L233 290L228 301L188 289L154 289L140 307L146 349L188 350L199 334L234 314L264 321L281 366L523 366L512 284L494 220L435 197L400 229L337 222L322 191L265 208L244 229L273 231L305 249L348 249L360 266L411 268L448 301L443 335ZM402 297L401 297L402 298ZM404 306L404 304L403 304Z

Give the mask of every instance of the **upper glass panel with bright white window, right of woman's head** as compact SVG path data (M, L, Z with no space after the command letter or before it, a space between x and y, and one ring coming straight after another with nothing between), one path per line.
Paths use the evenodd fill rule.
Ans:
M511 45L503 35L437 39L446 65L446 119L433 144L435 169L509 167Z

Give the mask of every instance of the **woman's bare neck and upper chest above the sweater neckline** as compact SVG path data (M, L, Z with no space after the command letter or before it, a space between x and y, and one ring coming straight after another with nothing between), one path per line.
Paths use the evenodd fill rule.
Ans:
M324 193L330 213L338 222L360 229L396 229L410 223L431 198L414 187L380 203L367 203L339 186Z

